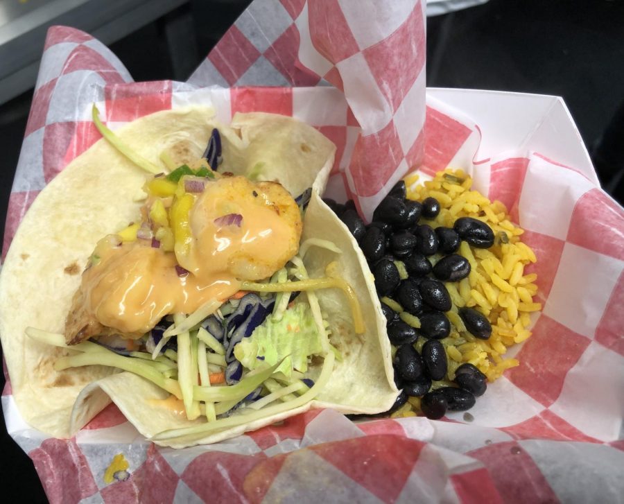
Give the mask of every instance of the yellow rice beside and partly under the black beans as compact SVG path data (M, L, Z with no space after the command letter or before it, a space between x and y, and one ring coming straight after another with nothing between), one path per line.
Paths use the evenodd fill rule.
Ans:
M505 357L505 354L509 347L531 336L530 314L541 310L541 304L532 299L537 293L537 275L524 272L528 264L537 261L535 253L521 242L523 229L512 224L505 205L471 191L472 179L463 171L447 168L424 184L418 184L418 175L413 173L405 181L409 199L422 201L433 196L440 202L440 214L434 220L421 219L421 223L433 228L453 227L458 218L473 217L487 223L494 231L496 239L489 249L461 243L457 253L469 261L471 272L460 282L446 284L453 307L447 313L451 334L442 340L449 359L448 380L455 378L455 371L461 364L471 363L488 381L494 381L505 370L519 365L517 359ZM435 262L440 257L430 259ZM461 306L471 306L487 317L492 324L492 336L488 340L479 340L466 331L458 315ZM435 382L433 386L446 384L447 381ZM408 407L400 408L392 416L406 416L412 409L418 410L419 403L410 399Z

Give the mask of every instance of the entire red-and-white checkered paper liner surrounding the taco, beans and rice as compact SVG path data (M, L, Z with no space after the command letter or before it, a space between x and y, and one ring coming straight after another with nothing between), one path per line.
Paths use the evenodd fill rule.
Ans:
M481 117L496 96L464 92L458 98L433 90L423 134L419 110L425 110L424 101L410 98L421 88L413 87L401 96L403 101L393 102L398 95L386 84L399 69L388 64L381 84L372 90L376 80L361 78L361 70L374 65L360 55L370 44L384 42L367 39L363 30L356 35L354 28L375 19L385 28L380 32L385 39L403 37L424 51L424 43L410 38L424 37L424 31L404 34L405 24L424 28L422 19L415 20L415 13L422 17L422 6L393 2L390 13L402 16L403 23L389 20L385 2L358 2L367 15L350 6L339 0L256 0L225 35L229 44L220 42L193 74L192 84L132 82L119 60L92 37L52 28L10 198L4 250L37 193L98 139L89 118L91 103L98 103L112 128L157 110L208 101L223 121L237 111L280 112L315 125L336 143L329 190L338 197L359 196L363 209L374 207L385 189L415 164L428 175L449 164L465 168L481 192L508 205L539 257L531 268L539 275L544 302L534 335L514 349L522 365L489 386L471 410L471 422L453 413L447 421L354 424L331 410L313 411L234 440L183 450L150 444L114 405L73 439L49 438L21 419L7 381L2 405L8 431L35 462L51 502L621 499L624 212L599 189L589 162L569 167L549 159L554 153L567 161L575 150L581 157L574 159L582 159L584 153L580 138L557 144L566 128L573 136L578 132L556 99L539 124L531 125L521 112L506 115L505 104L520 100L525 109L541 106L532 97L505 95L489 116ZM347 37L346 31L352 35ZM278 43L283 37L290 42ZM363 51L353 53L347 39ZM391 53L396 50L389 47ZM354 67L341 67L349 58L356 58ZM246 67L239 66L241 60ZM416 68L415 82L422 83L413 86L424 92L424 67ZM352 82L352 71L360 82ZM339 89L201 87L215 82L311 85L320 75ZM374 107L383 101L385 105ZM483 120L478 128L460 110L470 111L480 101L483 107L471 111ZM409 141L399 129L405 123L397 116L402 111L401 118L408 117L413 110L411 126L416 128L410 130L413 144L406 149ZM394 134L375 130L382 117L396 124ZM363 134L370 132L375 139L358 147L360 125ZM130 478L106 485L105 469L117 453L130 463Z

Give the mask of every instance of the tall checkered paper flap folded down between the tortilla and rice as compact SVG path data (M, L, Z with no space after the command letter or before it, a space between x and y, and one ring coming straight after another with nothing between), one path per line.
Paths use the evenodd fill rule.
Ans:
M370 217L422 160L425 8L423 0L256 0L189 82L340 89L347 125L361 131L350 132L330 186ZM342 143L345 132L334 133Z

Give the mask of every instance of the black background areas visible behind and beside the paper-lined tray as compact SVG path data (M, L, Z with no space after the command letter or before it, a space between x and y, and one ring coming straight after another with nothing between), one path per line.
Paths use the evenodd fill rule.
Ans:
M186 80L248 3L191 1L110 49L137 81ZM171 35L175 24L184 26L184 37ZM431 17L427 85L563 96L603 186L622 202L623 27L624 5L617 0L490 0ZM31 89L0 106L0 208L5 213L32 94ZM0 425L3 500L45 502L31 460Z

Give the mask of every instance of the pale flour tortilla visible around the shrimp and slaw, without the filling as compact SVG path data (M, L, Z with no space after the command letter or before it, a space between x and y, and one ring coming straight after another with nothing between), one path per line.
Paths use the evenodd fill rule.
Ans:
M339 335L332 341L345 358L336 365L318 401L208 437L163 444L180 447L216 442L309 408L366 413L388 410L398 391L392 381L390 344L372 276L345 225L319 197L333 165L335 146L295 119L236 114L232 125L226 127L214 120L208 107L150 114L117 134L150 162L162 164L159 154L163 150L175 162L202 155L215 127L223 139L220 171L244 174L254 170L260 180L276 180L293 195L314 187L302 239L327 238L343 254L313 247L306 255L306 266L312 277L318 277L327 262L339 261L345 279L358 295L366 332L356 336L349 329L350 311L340 291L319 291L322 309ZM70 437L111 400L147 437L194 423L155 406L152 399L164 399L168 394L134 374L101 366L56 372L55 359L68 350L35 342L24 333L28 326L63 332L71 297L95 243L136 219L141 206L137 195L146 177L105 140L96 142L40 193L8 251L0 275L0 338L12 393L26 422L49 435ZM318 370L312 367L311 375L315 372Z

